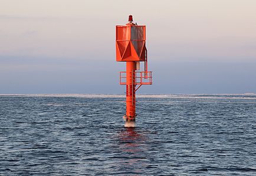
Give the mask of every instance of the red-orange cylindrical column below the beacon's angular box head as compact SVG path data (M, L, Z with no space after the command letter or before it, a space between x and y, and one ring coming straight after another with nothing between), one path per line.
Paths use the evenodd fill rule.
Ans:
M136 62L126 62L126 121L135 121Z

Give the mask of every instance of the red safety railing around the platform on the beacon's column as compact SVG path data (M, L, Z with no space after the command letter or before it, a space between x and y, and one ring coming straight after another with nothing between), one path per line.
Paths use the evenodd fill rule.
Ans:
M119 82L126 85L126 72L120 72ZM152 84L152 72L135 72L135 84Z

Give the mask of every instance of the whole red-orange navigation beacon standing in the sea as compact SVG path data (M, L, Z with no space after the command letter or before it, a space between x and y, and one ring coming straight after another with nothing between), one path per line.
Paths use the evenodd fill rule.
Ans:
M116 61L126 62L126 72L120 72L120 84L126 85L125 127L135 127L135 92L143 84L152 84L152 72L147 71L146 26L133 22L129 15L126 25L116 26ZM140 62L144 71L139 72Z

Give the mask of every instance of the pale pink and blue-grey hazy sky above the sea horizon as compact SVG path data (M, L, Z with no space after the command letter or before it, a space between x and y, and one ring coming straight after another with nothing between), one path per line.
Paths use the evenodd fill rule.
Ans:
M0 94L123 93L115 25L146 25L139 93L256 93L256 1L0 0Z

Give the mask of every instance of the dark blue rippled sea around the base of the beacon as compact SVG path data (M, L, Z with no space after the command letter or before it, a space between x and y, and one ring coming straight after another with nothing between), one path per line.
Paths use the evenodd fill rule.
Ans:
M0 96L0 175L256 175L256 94Z

